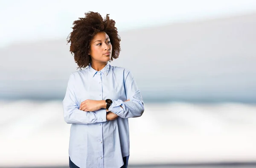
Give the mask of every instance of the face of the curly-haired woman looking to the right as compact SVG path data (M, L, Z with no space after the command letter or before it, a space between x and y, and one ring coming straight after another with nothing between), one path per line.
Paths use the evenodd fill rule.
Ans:
M90 42L90 56L92 62L108 62L112 55L112 45L108 34L97 33Z

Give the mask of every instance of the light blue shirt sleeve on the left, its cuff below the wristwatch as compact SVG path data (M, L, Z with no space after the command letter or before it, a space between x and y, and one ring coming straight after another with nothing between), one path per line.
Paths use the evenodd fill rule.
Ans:
M75 78L72 73L67 84L65 97L62 101L64 120L66 123L93 124L107 121L105 109L99 109L94 112L84 112L79 110L79 104L76 100L74 90L74 82Z

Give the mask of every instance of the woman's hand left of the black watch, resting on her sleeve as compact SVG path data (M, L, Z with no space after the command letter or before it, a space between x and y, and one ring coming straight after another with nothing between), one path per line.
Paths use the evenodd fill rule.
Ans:
M87 99L80 104L79 110L82 110L85 112L93 112L101 108L102 108L102 101Z

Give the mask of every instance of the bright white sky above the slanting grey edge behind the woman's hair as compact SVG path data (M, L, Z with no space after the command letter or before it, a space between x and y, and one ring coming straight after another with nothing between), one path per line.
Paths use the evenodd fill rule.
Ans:
M0 47L66 38L87 11L110 14L119 31L256 12L255 0L0 0Z

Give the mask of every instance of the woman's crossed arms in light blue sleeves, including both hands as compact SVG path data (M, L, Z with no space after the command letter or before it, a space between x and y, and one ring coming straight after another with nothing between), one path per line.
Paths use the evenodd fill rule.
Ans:
M67 123L93 124L121 118L140 117L144 112L144 103L140 90L129 71L125 71L125 94L128 100L112 100L106 112L105 100L85 100L79 105L74 92L75 76L70 75L67 91L63 100L64 120Z

